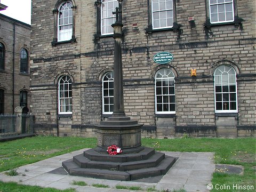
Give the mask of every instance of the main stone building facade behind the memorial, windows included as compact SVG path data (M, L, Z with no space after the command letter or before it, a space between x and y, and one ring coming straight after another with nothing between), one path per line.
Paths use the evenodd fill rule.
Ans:
M120 2L124 108L144 124L143 136L255 136L254 0ZM35 130L94 136L113 108L110 13L118 1L32 5ZM155 62L161 52L173 60Z

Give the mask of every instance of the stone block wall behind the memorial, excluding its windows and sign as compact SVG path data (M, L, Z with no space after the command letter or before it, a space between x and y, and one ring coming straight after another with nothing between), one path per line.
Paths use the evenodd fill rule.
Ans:
M97 36L94 2L75 1L76 41L52 45L57 1L33 0L31 110L41 130L45 127L52 134L89 137L94 135L93 125L107 118L102 114L101 81L113 70L114 39ZM145 137L255 135L255 1L235 1L241 22L215 26L207 26L207 0L173 2L178 28L152 31L151 1L123 0L126 115L145 125ZM188 21L188 17L194 20ZM165 65L154 62L154 55L162 51L171 52L173 61ZM215 113L214 69L220 65L236 70L238 113ZM175 114L155 113L154 78L162 67L175 75ZM191 77L191 69L197 70L196 77ZM73 111L69 116L57 112L58 78L64 74L73 79Z

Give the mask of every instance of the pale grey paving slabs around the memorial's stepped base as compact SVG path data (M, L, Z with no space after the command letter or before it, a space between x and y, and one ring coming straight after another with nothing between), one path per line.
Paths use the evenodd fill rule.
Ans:
M14 181L22 185L53 187L57 189L75 188L76 191L86 192L117 192L129 191L116 189L116 185L121 186L140 186L143 190L155 187L156 190L179 190L185 189L187 192L209 191L207 185L211 183L212 174L215 164L213 163L213 153L180 153L180 152L164 152L166 155L179 157L178 161L171 169L162 177L153 180L137 180L137 181L114 181L94 178L85 178L70 176L68 174L49 173L59 167L61 162L73 158L73 156L83 153L86 149L74 151L72 153L52 157L43 161L21 166L17 170L19 175L7 176L0 173L0 180L4 182ZM26 170L26 171L25 171ZM22 174L24 176L22 176ZM89 186L71 185L73 181L84 181ZM109 188L95 188L92 184L104 184Z

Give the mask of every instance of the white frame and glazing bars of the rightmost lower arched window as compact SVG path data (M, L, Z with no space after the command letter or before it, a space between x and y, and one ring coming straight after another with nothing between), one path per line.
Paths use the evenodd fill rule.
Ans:
M225 67L225 70L223 70L223 71L221 71L220 70L220 67L221 66L224 66ZM227 67L227 68L226 68ZM228 70L228 68L230 68L229 70ZM221 75L216 75L216 72L217 72L217 70L219 70L222 74ZM230 70L234 70L234 73L235 74L228 74L228 72L230 71ZM222 76L223 76L223 73L226 73L226 74L228 74L228 83L225 83L225 84L223 84L223 82L222 82ZM218 77L217 77L218 76ZM231 77L230 76L233 76L233 78L235 78L235 82L234 83L230 83L229 81L230 81L230 79L231 79ZM218 83L217 84L217 78L221 78L221 83ZM220 66L218 66L216 69L215 69L215 71L214 71L214 106L215 106L215 113L237 113L238 112L238 103L237 103L237 79L236 79L236 70L233 68L233 67L231 67L231 66L229 66L229 65L220 65ZM221 86L221 92L216 92L217 90L216 90L216 86ZM230 86L234 86L235 85L235 91L230 91ZM226 92L226 91L223 91L223 86L228 86L228 92ZM236 109L235 110L230 110L230 107L231 107L231 102L230 102L230 94L236 94ZM221 94L221 101L217 101L217 94ZM225 102L225 101L223 101L223 94L228 94L228 98L229 98L229 100L228 101L226 101L226 103L228 102L229 103L229 109L227 110L227 109L223 109L223 105L225 105L223 102ZM222 102L222 109L220 110L220 109L217 109L217 102ZM234 101L233 101L234 102Z

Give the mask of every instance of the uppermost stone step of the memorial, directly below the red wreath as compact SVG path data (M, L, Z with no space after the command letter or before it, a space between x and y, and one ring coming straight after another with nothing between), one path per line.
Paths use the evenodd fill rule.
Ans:
M146 160L155 154L155 149L144 147L143 150L134 154L118 154L111 156L107 152L105 154L98 153L95 149L89 149L84 151L84 156L91 161L104 161L106 162L132 162L132 161L141 161Z

